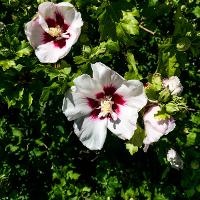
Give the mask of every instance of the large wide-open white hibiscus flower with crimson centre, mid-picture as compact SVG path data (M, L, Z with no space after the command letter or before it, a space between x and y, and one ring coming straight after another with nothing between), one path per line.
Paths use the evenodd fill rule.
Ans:
M62 110L68 120L74 120L74 132L83 145L99 150L107 128L121 139L132 137L147 98L140 81L126 81L102 63L91 67L93 77L83 74L74 80Z

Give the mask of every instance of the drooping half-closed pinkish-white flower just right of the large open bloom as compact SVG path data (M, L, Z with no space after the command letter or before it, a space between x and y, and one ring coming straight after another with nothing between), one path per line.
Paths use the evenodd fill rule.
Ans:
M160 111L160 106L150 107L144 114L144 126L146 137L144 138L144 151L146 152L149 145L153 142L157 142L160 137L167 135L173 131L176 124L174 119L171 117L165 120L156 119L155 114Z

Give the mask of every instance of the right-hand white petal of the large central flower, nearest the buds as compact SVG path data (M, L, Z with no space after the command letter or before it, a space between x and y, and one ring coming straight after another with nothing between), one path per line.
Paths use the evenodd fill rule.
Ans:
M142 82L138 80L129 80L116 90L121 95L127 106L136 108L140 111L147 104L147 97L144 93Z

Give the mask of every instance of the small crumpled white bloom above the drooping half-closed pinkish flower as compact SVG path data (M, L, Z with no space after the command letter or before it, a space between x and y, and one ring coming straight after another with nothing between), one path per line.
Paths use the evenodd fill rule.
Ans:
M178 95L183 91L183 86L177 76L171 76L168 79L164 79L163 86L164 88L168 87L172 95Z

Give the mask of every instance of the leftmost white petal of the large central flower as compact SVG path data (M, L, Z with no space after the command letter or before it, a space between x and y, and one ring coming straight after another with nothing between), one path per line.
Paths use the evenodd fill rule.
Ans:
M68 92L63 99L62 111L68 120L74 120L91 112L87 99L80 93Z

